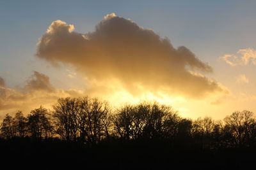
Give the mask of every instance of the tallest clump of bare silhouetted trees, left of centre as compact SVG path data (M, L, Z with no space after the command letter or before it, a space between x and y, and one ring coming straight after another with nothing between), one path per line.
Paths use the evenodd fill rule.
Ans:
M107 103L97 98L61 98L53 106L52 116L60 136L67 141L97 143L109 136L111 118Z

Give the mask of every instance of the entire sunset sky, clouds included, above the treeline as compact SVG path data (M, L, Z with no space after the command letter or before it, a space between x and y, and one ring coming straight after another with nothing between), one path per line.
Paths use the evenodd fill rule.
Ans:
M59 97L256 111L255 1L0 1L0 118Z

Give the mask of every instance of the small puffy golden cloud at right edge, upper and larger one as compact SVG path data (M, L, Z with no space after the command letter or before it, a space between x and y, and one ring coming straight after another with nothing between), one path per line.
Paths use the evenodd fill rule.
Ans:
M256 51L252 48L238 50L237 54L226 54L220 57L220 59L227 62L230 66L247 65L249 63L256 65Z

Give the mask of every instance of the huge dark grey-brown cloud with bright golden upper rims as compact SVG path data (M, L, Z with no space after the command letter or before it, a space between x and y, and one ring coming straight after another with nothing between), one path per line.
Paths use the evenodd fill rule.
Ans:
M173 48L167 38L115 13L106 15L94 32L86 34L75 32L74 25L61 20L52 22L37 44L36 56L53 66L61 63L76 67L96 93L115 89L115 85L134 96L145 90L164 90L199 99L227 92L220 83L194 74L211 73L212 67L188 48Z

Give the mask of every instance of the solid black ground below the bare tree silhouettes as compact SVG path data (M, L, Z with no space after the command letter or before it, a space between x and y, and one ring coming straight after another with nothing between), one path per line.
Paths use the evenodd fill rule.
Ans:
M1 166L38 169L253 169L255 148L202 148L164 141L108 141L95 146L48 139L1 139Z

